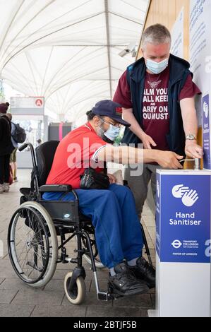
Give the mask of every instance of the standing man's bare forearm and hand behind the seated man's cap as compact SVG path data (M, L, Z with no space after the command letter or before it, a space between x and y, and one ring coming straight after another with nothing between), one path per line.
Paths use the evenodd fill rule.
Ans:
M151 149L152 146L156 146L157 144L155 141L153 141L152 137L145 134L143 129L140 127L140 124L138 124L138 121L135 119L133 114L132 108L123 108L122 109L122 117L125 121L127 121L130 126L130 130L133 131L133 133L140 138L140 140L143 142L143 146L145 149Z

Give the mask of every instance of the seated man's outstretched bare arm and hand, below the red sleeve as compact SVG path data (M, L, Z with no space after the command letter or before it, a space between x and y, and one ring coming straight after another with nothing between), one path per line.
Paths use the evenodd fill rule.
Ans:
M176 170L183 168L179 160L183 158L171 151L160 151L152 149L138 149L130 146L104 146L97 153L97 160L116 162L118 164L133 165L148 162L157 162L163 168Z

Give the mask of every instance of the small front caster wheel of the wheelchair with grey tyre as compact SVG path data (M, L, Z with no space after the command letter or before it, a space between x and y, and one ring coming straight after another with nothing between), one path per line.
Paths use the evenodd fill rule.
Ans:
M85 300L85 281L83 277L78 277L76 283L70 289L73 272L68 272L64 278L64 290L68 301L73 304L81 304Z

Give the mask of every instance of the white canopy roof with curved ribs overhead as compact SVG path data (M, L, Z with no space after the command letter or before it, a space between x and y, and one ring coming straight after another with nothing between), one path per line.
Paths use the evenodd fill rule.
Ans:
M80 123L135 61L148 0L0 0L0 78Z

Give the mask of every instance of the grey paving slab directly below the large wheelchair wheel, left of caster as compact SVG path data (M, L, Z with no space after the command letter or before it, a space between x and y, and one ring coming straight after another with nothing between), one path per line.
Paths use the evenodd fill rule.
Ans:
M42 290L20 290L14 298L12 304L43 304L60 305L63 300L64 292L49 292Z

